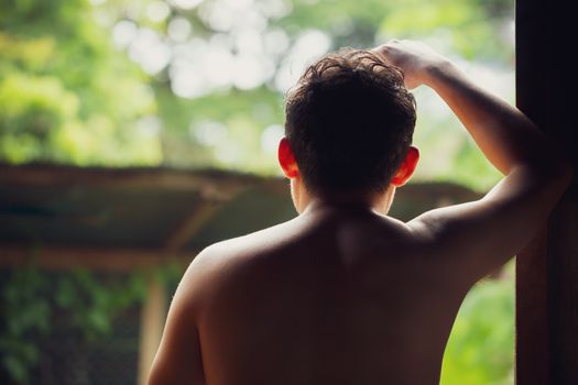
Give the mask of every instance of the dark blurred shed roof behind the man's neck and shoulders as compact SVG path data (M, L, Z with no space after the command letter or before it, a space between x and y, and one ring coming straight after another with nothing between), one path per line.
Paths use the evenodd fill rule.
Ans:
M456 185L413 184L396 195L392 216L408 219L478 197ZM189 255L295 215L282 178L214 169L0 165L3 250L113 249Z

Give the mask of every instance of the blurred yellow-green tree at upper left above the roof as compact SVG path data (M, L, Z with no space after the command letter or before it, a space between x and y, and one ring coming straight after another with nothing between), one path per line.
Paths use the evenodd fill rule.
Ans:
M112 50L86 1L0 3L0 157L157 164L148 78Z

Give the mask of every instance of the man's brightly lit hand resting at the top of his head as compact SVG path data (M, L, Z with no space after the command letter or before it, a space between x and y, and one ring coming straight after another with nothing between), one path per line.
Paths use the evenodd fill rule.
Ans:
M410 89L428 82L429 72L448 63L448 59L421 42L392 40L371 50L388 63L400 67Z

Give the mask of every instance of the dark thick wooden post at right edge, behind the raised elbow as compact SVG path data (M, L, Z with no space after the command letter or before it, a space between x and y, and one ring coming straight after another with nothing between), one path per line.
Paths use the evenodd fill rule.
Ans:
M517 0L517 106L572 157L577 33L574 2ZM516 260L516 384L578 384L576 183Z

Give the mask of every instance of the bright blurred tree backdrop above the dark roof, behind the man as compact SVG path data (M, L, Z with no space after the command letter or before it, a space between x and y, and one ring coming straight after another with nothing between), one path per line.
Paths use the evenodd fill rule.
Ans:
M275 173L283 92L312 58L412 37L478 63L473 72L491 66L508 74L512 6L7 0L0 4L0 157ZM512 77L493 82L508 82L498 91L511 97ZM425 160L428 153L439 160L424 162L418 177L477 188L495 182L444 107L422 111L432 97L417 94L415 141ZM476 166L476 177L466 165Z

